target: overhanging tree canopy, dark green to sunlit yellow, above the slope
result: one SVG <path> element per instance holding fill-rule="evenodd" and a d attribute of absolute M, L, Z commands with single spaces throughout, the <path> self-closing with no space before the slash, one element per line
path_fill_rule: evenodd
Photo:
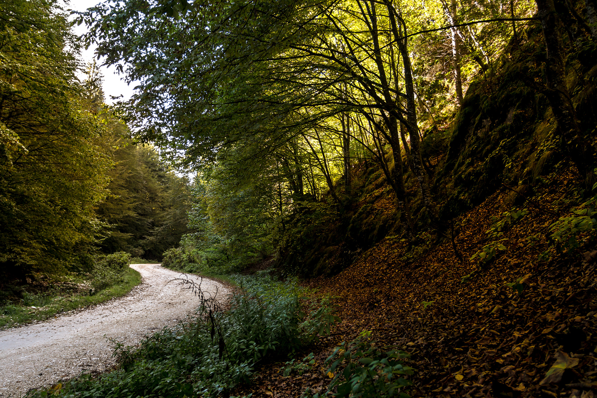
<path fill-rule="evenodd" d="M 449 6 L 450 16 L 494 17 L 501 12 L 493 2 L 479 3 L 482 10 L 469 7 L 458 13 L 455 6 Z M 416 65 L 436 53 L 434 47 L 422 50 L 429 36 L 418 37 L 411 26 L 428 27 L 429 17 L 441 19 L 441 5 L 427 11 L 392 0 L 201 1 L 188 10 L 180 8 L 175 16 L 165 12 L 171 7 L 161 1 L 142 7 L 136 1 L 106 3 L 79 16 L 91 27 L 87 43 L 97 42 L 104 63 L 141 81 L 131 115 L 139 139 L 169 146 L 171 158 L 187 165 L 216 159 L 235 163 L 248 180 L 277 164 L 278 175 L 284 175 L 297 200 L 305 181 L 316 192 L 305 171 L 319 169 L 338 203 L 332 178 L 336 166 L 330 170 L 328 162 L 337 155 L 330 158 L 327 152 L 341 149 L 340 174 L 348 192 L 352 141 L 380 163 L 396 205 L 408 219 L 404 153 L 426 209 L 420 214 L 435 220 L 437 206 L 429 167 L 421 156 L 418 117 L 426 113 L 425 119 L 436 125 L 435 111 L 426 103 L 429 91 L 417 94 L 425 71 Z M 453 27 L 455 42 L 466 43 L 463 48 L 474 48 L 485 59 L 473 61 L 472 54 L 458 53 L 453 65 L 487 70 L 500 51 L 498 45 L 488 50 L 485 40 L 507 42 L 512 30 L 504 22 L 511 19 L 498 14 L 469 34 Z M 460 86 L 463 91 L 464 82 Z M 441 116 L 447 118 L 449 112 Z M 324 143 L 322 132 L 332 131 L 338 132 L 336 138 Z M 393 170 L 385 164 L 385 143 L 392 149 Z"/>

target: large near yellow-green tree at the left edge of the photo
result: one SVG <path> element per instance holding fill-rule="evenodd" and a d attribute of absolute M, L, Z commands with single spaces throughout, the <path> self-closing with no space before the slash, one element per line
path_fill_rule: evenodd
<path fill-rule="evenodd" d="M 106 127 L 75 77 L 79 44 L 58 2 L 1 7 L 2 277 L 86 271 L 112 166 Z"/>

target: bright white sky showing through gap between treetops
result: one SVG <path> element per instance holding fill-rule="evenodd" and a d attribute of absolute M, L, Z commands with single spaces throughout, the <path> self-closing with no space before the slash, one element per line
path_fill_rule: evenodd
<path fill-rule="evenodd" d="M 72 9 L 72 10 L 76 10 L 76 11 L 85 11 L 87 10 L 87 8 L 89 7 L 93 7 L 94 5 L 100 3 L 101 0 L 70 0 L 69 4 L 66 6 L 66 9 Z M 73 32 L 75 32 L 76 35 L 82 35 L 84 33 L 87 32 L 87 26 L 85 26 L 85 24 L 80 24 L 79 26 L 73 26 Z M 90 47 L 88 48 L 88 50 L 85 50 L 85 48 L 81 49 L 81 58 L 82 60 L 87 63 L 87 62 L 93 62 L 93 53 L 96 51 L 96 49 L 94 47 Z M 100 63 L 100 61 L 98 61 L 98 64 Z M 118 95 L 123 95 L 124 97 L 121 100 L 128 100 L 131 95 L 133 95 L 133 87 L 136 86 L 136 84 L 133 82 L 131 85 L 127 85 L 127 83 L 124 81 L 124 75 L 118 75 L 116 74 L 116 68 L 111 66 L 109 68 L 106 68 L 105 66 L 100 67 L 101 73 L 104 76 L 104 82 L 103 82 L 103 89 L 104 89 L 104 94 L 106 95 L 106 103 L 111 104 L 115 101 L 110 99 L 110 95 L 113 95 L 114 97 L 118 97 Z M 81 73 L 81 75 L 79 75 L 79 78 L 84 78 L 84 73 Z"/>

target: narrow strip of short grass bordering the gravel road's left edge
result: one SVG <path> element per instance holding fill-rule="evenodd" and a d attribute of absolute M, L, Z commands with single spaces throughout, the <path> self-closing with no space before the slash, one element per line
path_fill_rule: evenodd
<path fill-rule="evenodd" d="M 122 297 L 141 283 L 141 274 L 132 268 L 122 273 L 123 282 L 112 285 L 94 295 L 27 295 L 26 302 L 0 307 L 0 329 L 13 328 L 45 320 L 64 311 L 103 303 L 115 297 Z M 29 304 L 27 306 L 23 304 Z M 32 308 L 35 307 L 35 308 Z"/>

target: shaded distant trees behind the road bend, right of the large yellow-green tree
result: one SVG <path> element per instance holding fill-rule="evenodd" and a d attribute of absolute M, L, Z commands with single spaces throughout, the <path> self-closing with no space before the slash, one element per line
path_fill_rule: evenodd
<path fill-rule="evenodd" d="M 159 259 L 187 232 L 189 181 L 177 177 L 152 146 L 127 140 L 114 144 L 110 195 L 97 206 L 97 216 L 107 224 L 99 246 L 107 253 Z"/>

